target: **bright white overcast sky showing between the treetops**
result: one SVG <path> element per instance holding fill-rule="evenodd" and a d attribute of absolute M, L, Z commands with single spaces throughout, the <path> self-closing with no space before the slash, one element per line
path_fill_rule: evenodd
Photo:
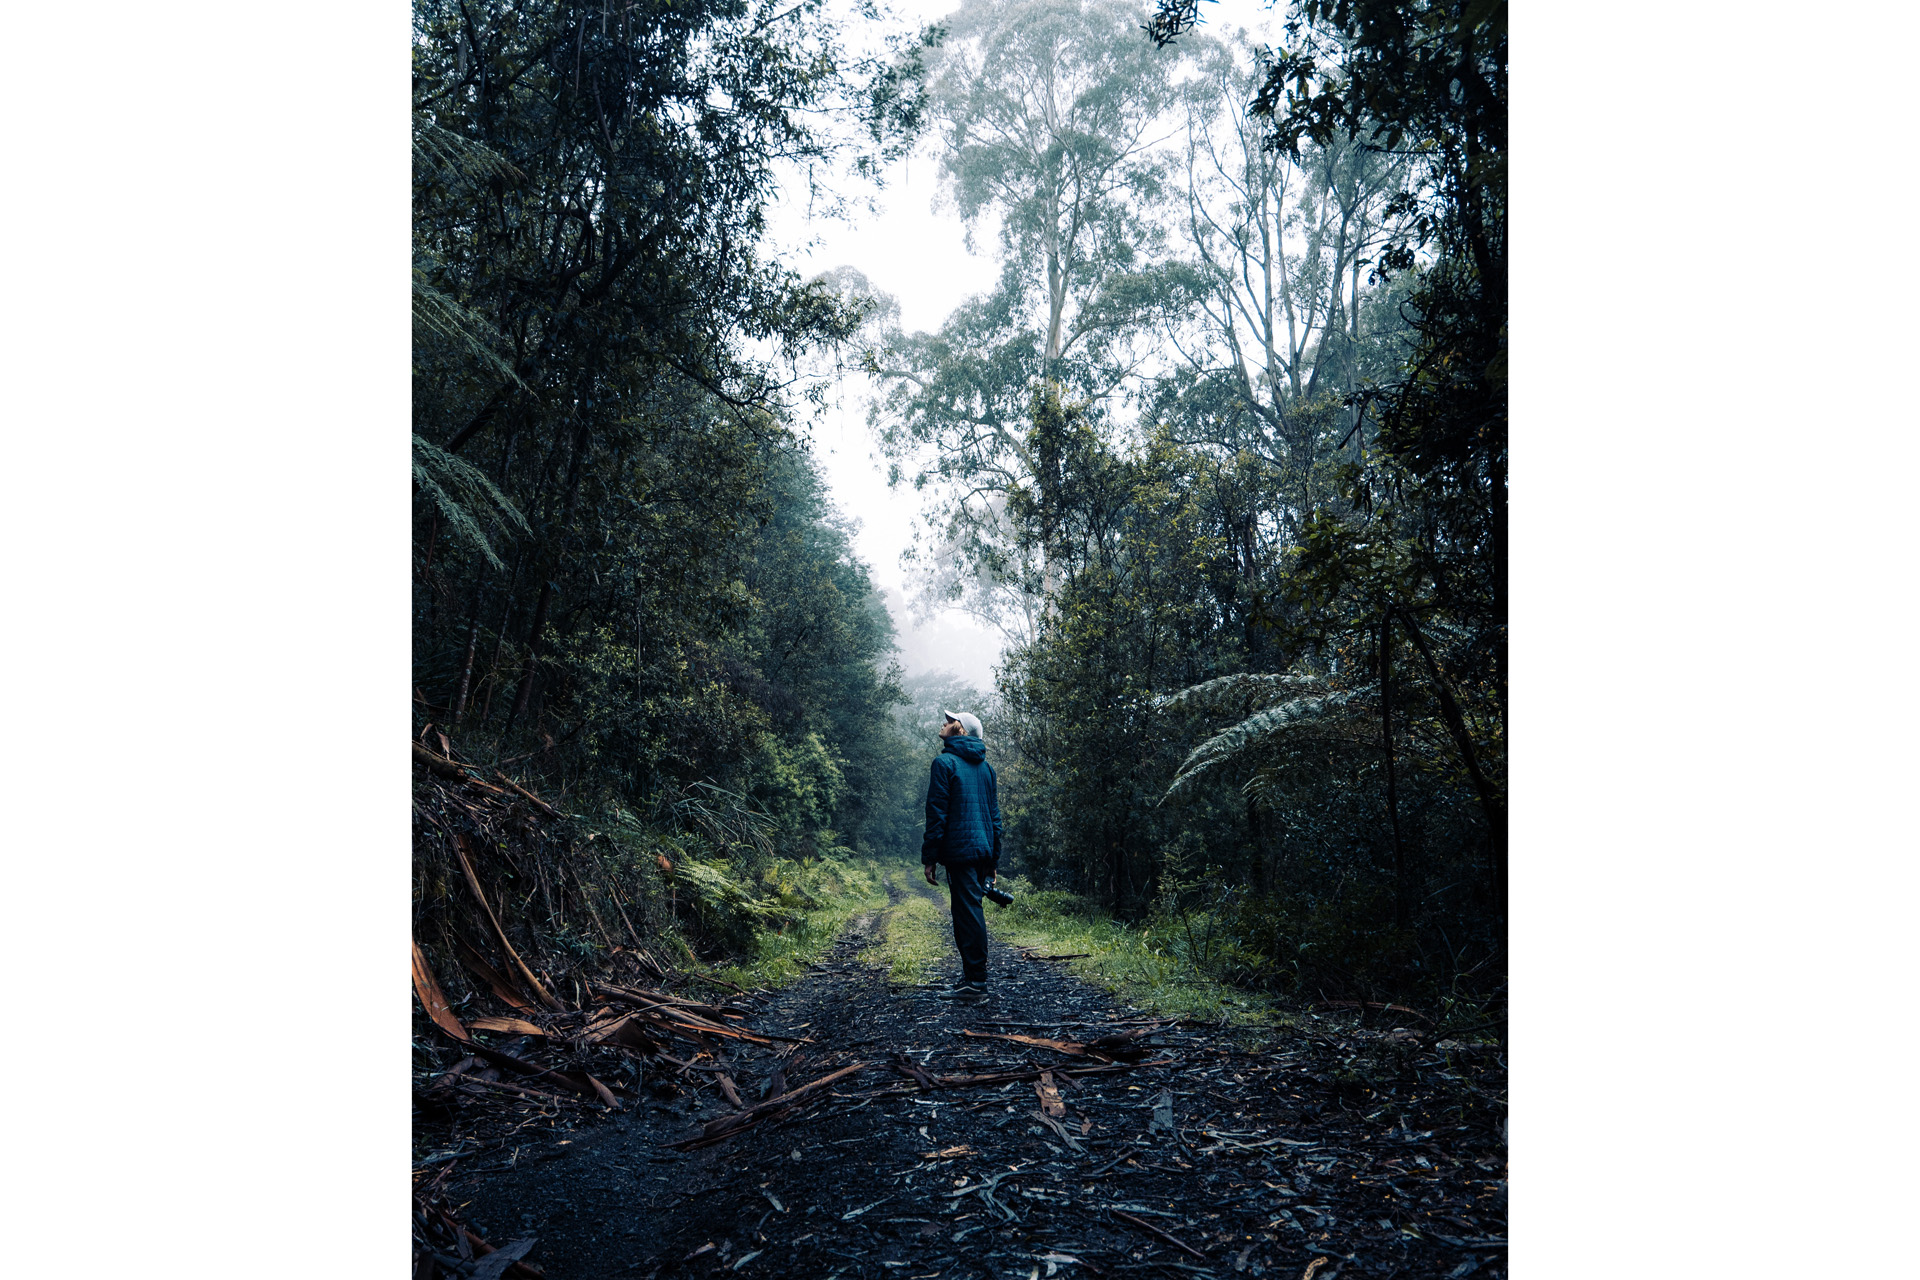
<path fill-rule="evenodd" d="M 950 0 L 899 0 L 895 10 L 914 25 L 952 13 Z M 1142 21 L 1146 8 L 1140 10 Z M 1258 0 L 1202 4 L 1204 31 L 1227 35 L 1235 27 L 1275 38 L 1279 23 Z M 1144 33 L 1140 36 L 1146 38 Z M 979 236 L 981 253 L 966 251 L 966 230 L 950 209 L 935 211 L 939 157 L 931 144 L 887 173 L 877 213 L 852 221 L 806 217 L 806 194 L 795 186 L 793 200 L 772 211 L 774 244 L 803 276 L 833 267 L 854 267 L 874 288 L 900 303 L 906 332 L 935 330 L 960 301 L 989 290 L 998 276 L 996 244 Z M 914 626 L 906 610 L 910 583 L 900 566 L 900 551 L 912 541 L 914 516 L 922 499 L 910 487 L 889 489 L 885 464 L 877 457 L 866 426 L 864 376 L 845 378 L 835 407 L 814 428 L 814 453 L 833 489 L 833 501 L 860 522 L 854 549 L 874 570 L 887 593 L 900 639 L 900 662 L 908 674 L 947 670 L 973 685 L 993 685 L 993 664 L 1000 658 L 998 631 L 948 610 L 925 626 Z"/>

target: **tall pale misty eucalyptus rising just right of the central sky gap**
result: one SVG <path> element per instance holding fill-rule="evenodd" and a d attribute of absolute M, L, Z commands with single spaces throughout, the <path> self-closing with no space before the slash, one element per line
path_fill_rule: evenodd
<path fill-rule="evenodd" d="M 1004 518 L 1035 476 L 1031 391 L 1112 401 L 1187 299 L 1158 219 L 1177 58 L 1142 17 L 1117 0 L 983 0 L 947 19 L 931 63 L 947 192 L 970 244 L 996 232 L 1002 274 L 939 332 L 885 334 L 870 372 L 897 474 L 933 486 L 933 555 L 956 591 L 981 572 L 1027 595 L 1054 578 L 1010 551 Z"/>

